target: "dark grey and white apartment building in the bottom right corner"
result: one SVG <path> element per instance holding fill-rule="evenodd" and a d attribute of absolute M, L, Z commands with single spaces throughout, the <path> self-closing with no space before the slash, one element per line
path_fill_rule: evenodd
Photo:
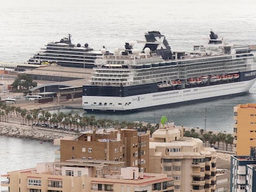
<path fill-rule="evenodd" d="M 231 156 L 231 192 L 256 191 L 256 148 L 246 156 Z"/>

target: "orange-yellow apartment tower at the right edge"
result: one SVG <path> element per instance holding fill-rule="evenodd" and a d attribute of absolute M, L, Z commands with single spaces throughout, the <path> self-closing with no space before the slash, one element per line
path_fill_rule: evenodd
<path fill-rule="evenodd" d="M 250 154 L 256 146 L 256 104 L 239 104 L 234 107 L 234 149 L 237 156 Z"/>

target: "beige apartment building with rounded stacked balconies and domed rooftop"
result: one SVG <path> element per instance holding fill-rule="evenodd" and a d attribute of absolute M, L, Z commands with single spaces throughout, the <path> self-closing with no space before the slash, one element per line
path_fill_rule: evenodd
<path fill-rule="evenodd" d="M 183 137 L 183 129 L 162 127 L 150 139 L 150 173 L 174 178 L 174 191 L 216 191 L 216 150 Z"/>

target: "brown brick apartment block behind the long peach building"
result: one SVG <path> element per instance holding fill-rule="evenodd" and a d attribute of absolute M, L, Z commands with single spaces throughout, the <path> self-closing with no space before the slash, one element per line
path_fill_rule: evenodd
<path fill-rule="evenodd" d="M 123 161 L 125 167 L 149 170 L 149 133 L 132 129 L 102 129 L 88 131 L 77 138 L 59 140 L 59 161 L 97 159 Z M 57 141 L 56 141 L 57 143 Z"/>

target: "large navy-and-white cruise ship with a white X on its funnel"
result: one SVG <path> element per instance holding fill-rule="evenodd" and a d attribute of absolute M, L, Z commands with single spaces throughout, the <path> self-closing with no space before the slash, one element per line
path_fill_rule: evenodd
<path fill-rule="evenodd" d="M 256 78 L 248 46 L 225 44 L 210 31 L 205 46 L 171 51 L 159 31 L 145 34 L 142 51 L 126 43 L 97 59 L 90 85 L 83 85 L 86 111 L 139 111 L 182 102 L 246 93 Z"/>

